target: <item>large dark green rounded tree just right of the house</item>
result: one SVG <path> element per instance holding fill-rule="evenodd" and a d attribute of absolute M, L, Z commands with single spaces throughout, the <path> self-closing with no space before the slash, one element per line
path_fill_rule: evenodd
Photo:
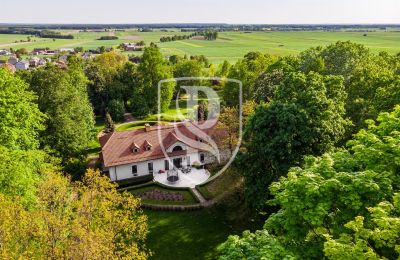
<path fill-rule="evenodd" d="M 340 77 L 291 73 L 273 102 L 257 107 L 238 158 L 251 207 L 265 207 L 266 187 L 300 166 L 305 155 L 321 155 L 341 140 L 348 124 L 345 98 Z"/>

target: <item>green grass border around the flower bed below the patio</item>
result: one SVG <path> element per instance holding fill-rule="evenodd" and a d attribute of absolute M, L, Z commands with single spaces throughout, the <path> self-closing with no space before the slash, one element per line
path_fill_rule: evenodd
<path fill-rule="evenodd" d="M 168 187 L 163 187 L 156 183 L 140 185 L 138 188 L 128 189 L 130 193 L 133 195 L 139 192 L 151 191 L 151 190 L 159 190 L 163 192 L 170 193 L 179 193 L 183 196 L 183 201 L 166 201 L 166 200 L 150 200 L 150 199 L 142 199 L 143 203 L 146 204 L 158 204 L 158 205 L 190 205 L 198 203 L 197 199 L 194 197 L 192 192 L 187 188 L 182 189 L 172 189 Z"/>

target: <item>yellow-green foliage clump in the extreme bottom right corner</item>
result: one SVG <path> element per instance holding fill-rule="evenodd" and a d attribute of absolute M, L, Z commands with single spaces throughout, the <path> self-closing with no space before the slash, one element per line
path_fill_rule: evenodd
<path fill-rule="evenodd" d="M 327 236 L 324 252 L 329 259 L 395 259 L 400 256 L 400 194 L 369 207 L 370 220 L 357 216 L 345 224 L 351 233 Z"/>

